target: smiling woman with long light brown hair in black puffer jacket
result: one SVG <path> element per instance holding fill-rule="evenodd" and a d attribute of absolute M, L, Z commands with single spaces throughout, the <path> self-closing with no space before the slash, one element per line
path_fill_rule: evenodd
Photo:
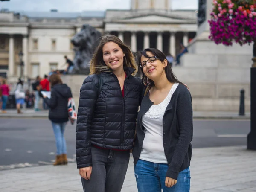
<path fill-rule="evenodd" d="M 136 73 L 131 50 L 116 36 L 104 36 L 80 90 L 76 163 L 84 192 L 122 189 L 143 90 Z"/>

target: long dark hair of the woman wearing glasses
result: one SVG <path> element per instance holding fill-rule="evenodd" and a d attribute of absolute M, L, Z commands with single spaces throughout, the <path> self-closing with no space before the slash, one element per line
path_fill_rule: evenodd
<path fill-rule="evenodd" d="M 174 73 L 172 72 L 172 67 L 171 67 L 171 64 L 169 63 L 169 61 L 166 59 L 166 55 L 163 54 L 163 52 L 161 52 L 160 50 L 158 49 L 154 49 L 154 48 L 147 48 L 147 49 L 144 49 L 144 51 L 140 51 L 140 52 L 137 52 L 137 63 L 140 64 L 141 63 L 141 57 L 142 55 L 145 57 L 145 58 L 151 58 L 152 56 L 149 56 L 147 55 L 146 52 L 151 52 L 154 56 L 157 57 L 157 59 L 159 59 L 161 62 L 163 62 L 164 60 L 167 61 L 167 66 L 166 68 L 164 69 L 165 70 L 165 73 L 166 73 L 166 77 L 168 79 L 168 81 L 170 81 L 171 83 L 180 83 L 180 84 L 183 84 L 181 83 L 177 77 L 174 75 Z M 152 81 L 151 79 L 149 79 L 147 76 L 145 76 L 145 73 L 143 73 L 143 70 L 142 68 L 140 67 L 140 70 L 141 70 L 141 73 L 142 73 L 142 80 L 145 84 L 147 84 L 149 87 L 153 87 L 154 86 L 154 81 Z"/>

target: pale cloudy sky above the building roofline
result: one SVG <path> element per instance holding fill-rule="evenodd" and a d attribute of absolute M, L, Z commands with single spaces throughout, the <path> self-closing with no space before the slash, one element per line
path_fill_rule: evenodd
<path fill-rule="evenodd" d="M 198 0 L 171 0 L 172 9 L 197 9 Z M 0 9 L 10 11 L 81 12 L 84 10 L 130 9 L 130 0 L 10 0 L 0 1 Z"/>

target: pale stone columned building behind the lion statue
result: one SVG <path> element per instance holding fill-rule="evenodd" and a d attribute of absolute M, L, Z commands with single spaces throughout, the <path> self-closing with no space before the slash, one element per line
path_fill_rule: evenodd
<path fill-rule="evenodd" d="M 84 12 L 0 12 L 0 76 L 16 81 L 64 69 L 73 59 L 70 39 L 83 24 L 118 36 L 133 52 L 154 47 L 177 55 L 195 37 L 195 10 L 173 10 L 169 0 L 131 0 L 129 10 Z M 23 52 L 23 72 L 18 53 Z"/>

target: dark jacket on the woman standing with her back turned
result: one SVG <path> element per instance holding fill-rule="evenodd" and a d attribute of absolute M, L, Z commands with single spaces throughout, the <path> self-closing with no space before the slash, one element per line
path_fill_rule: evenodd
<path fill-rule="evenodd" d="M 67 99 L 72 97 L 70 87 L 66 84 L 56 84 L 52 87 L 51 98 L 44 98 L 49 106 L 49 119 L 61 123 L 68 121 Z"/>

